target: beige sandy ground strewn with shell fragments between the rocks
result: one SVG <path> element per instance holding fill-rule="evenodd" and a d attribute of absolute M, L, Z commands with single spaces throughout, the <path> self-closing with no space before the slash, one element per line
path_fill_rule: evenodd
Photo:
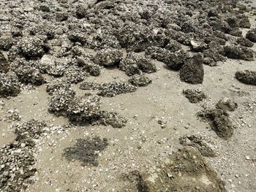
<path fill-rule="evenodd" d="M 256 27 L 255 19 L 251 18 L 252 28 Z M 252 49 L 256 51 L 256 47 Z M 71 126 L 58 134 L 48 135 L 37 148 L 36 182 L 26 191 L 135 190 L 122 179 L 123 175 L 160 164 L 181 147 L 178 138 L 184 134 L 206 135 L 215 143 L 217 157 L 207 158 L 207 161 L 225 181 L 227 191 L 256 191 L 256 89 L 238 82 L 234 77 L 238 70 L 256 71 L 255 61 L 227 60 L 215 67 L 204 66 L 202 85 L 181 82 L 178 72 L 166 69 L 161 62 L 155 63 L 159 70 L 148 75 L 153 80 L 151 85 L 138 88 L 135 93 L 102 98 L 102 110 L 114 110 L 124 115 L 128 119 L 127 126 L 120 129 L 111 126 Z M 89 77 L 89 80 L 98 82 L 121 79 L 127 79 L 127 76 L 118 69 L 104 69 L 100 77 Z M 182 94 L 184 88 L 199 88 L 205 91 L 208 99 L 200 104 L 191 104 Z M 75 90 L 78 94 L 84 93 L 78 85 Z M 37 118 L 48 124 L 66 126 L 67 119 L 48 113 L 49 97 L 45 85 L 42 85 L 23 91 L 18 97 L 1 99 L 5 105 L 0 115 L 4 117 L 8 110 L 17 109 L 23 116 L 19 123 Z M 208 124 L 196 116 L 203 107 L 214 107 L 224 97 L 238 104 L 238 110 L 230 112 L 236 129 L 228 140 L 217 137 Z M 167 120 L 166 128 L 157 123 L 159 118 Z M 6 121 L 0 121 L 0 127 L 0 146 L 3 146 L 14 138 L 13 128 Z M 64 148 L 74 145 L 75 139 L 87 136 L 109 139 L 110 145 L 99 154 L 99 166 L 81 166 L 79 161 L 66 161 L 62 157 Z"/>

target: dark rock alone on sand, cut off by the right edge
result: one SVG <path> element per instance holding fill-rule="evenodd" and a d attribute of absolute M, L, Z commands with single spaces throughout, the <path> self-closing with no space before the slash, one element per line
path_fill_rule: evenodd
<path fill-rule="evenodd" d="M 247 85 L 256 85 L 256 72 L 252 71 L 238 71 L 236 72 L 236 79 Z"/>

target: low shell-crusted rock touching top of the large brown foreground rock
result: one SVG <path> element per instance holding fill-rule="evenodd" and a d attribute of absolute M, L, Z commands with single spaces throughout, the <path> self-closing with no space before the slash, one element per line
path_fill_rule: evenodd
<path fill-rule="evenodd" d="M 215 157 L 214 147 L 210 139 L 199 135 L 185 135 L 179 138 L 181 145 L 197 148 L 205 157 Z"/>

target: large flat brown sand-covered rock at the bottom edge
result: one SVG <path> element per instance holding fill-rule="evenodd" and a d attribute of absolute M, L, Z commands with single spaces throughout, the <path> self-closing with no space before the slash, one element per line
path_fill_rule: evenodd
<path fill-rule="evenodd" d="M 193 147 L 173 153 L 161 166 L 140 173 L 138 191 L 225 192 L 225 183 Z"/>

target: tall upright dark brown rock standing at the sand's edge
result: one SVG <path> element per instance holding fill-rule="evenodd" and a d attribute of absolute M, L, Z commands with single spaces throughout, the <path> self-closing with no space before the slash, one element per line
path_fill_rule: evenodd
<path fill-rule="evenodd" d="M 189 59 L 189 61 L 181 67 L 180 78 L 181 81 L 190 84 L 203 83 L 203 55 L 198 53 Z"/>

